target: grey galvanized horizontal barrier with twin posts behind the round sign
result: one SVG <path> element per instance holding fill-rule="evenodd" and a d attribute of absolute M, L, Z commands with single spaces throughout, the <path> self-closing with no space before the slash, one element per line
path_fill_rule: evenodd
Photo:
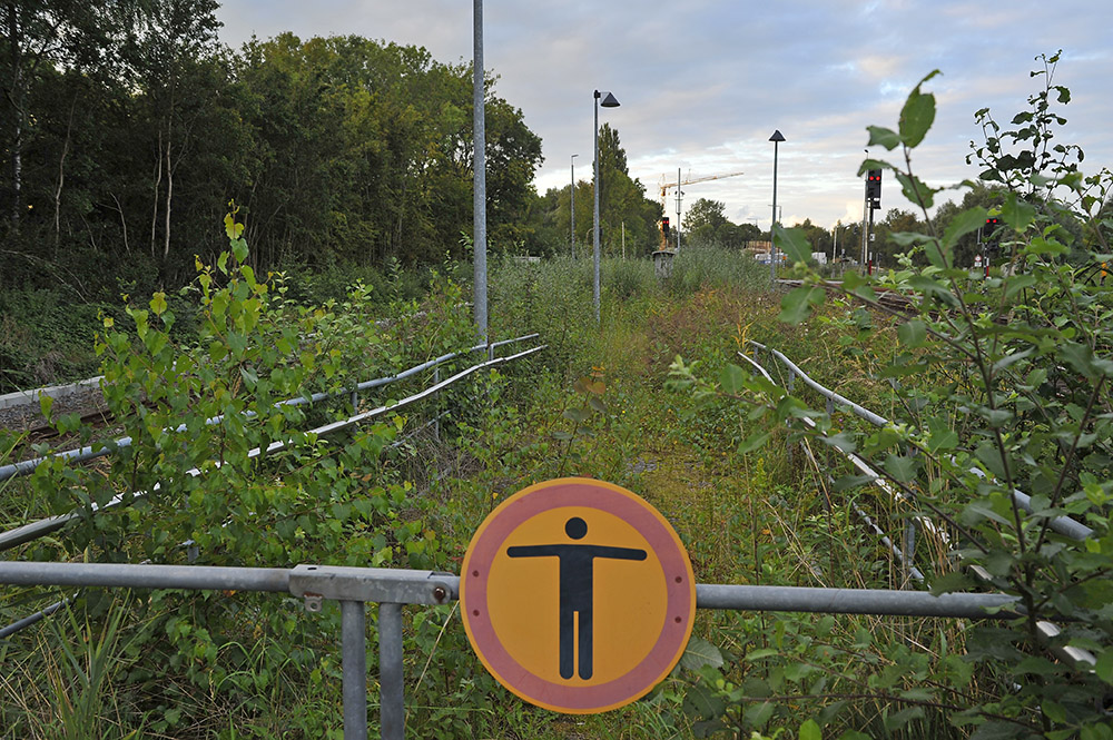
<path fill-rule="evenodd" d="M 380 728 L 384 740 L 405 737 L 402 606 L 445 604 L 459 598 L 460 579 L 434 571 L 333 565 L 293 569 L 35 563 L 0 561 L 0 583 L 10 585 L 126 589 L 230 590 L 289 593 L 319 612 L 341 604 L 341 654 L 345 740 L 367 738 L 366 605 L 378 604 Z M 1006 594 L 810 589 L 698 584 L 697 609 L 892 614 L 962 619 L 1012 619 L 1017 603 Z"/>

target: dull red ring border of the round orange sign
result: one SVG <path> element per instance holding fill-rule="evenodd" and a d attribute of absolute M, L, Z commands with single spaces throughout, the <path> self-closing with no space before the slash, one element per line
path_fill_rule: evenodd
<path fill-rule="evenodd" d="M 666 620 L 649 654 L 621 678 L 593 685 L 567 685 L 522 667 L 499 641 L 486 610 L 486 576 L 499 549 L 519 525 L 562 506 L 598 509 L 633 526 L 653 547 L 666 574 Z M 696 576 L 683 543 L 648 502 L 613 483 L 565 477 L 525 487 L 508 497 L 483 521 L 464 555 L 460 579 L 464 629 L 486 669 L 530 703 L 571 714 L 604 712 L 646 695 L 683 654 L 696 615 Z M 476 615 L 474 612 L 479 611 Z"/>

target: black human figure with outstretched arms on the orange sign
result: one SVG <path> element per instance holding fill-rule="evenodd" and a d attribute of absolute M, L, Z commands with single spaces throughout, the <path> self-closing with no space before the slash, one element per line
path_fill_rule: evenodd
<path fill-rule="evenodd" d="M 582 540 L 588 533 L 588 523 L 573 516 L 564 523 L 564 533 L 572 540 Z M 510 558 L 560 559 L 560 675 L 562 679 L 572 678 L 573 661 L 579 658 L 580 678 L 590 679 L 594 561 L 597 558 L 646 560 L 646 551 L 605 545 L 550 544 L 506 547 L 506 554 Z M 577 619 L 580 628 L 579 650 L 573 644 Z"/>

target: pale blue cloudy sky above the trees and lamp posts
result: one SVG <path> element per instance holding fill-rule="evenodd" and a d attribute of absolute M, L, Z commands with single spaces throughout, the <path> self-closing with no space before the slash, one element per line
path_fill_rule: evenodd
<path fill-rule="evenodd" d="M 467 0 L 226 0 L 217 14 L 232 47 L 253 33 L 358 34 L 422 46 L 444 62 L 472 59 Z M 541 193 L 570 180 L 573 154 L 577 179 L 590 179 L 599 89 L 621 102 L 601 108 L 600 122 L 618 130 L 650 197 L 678 169 L 683 179 L 742 172 L 684 186 L 683 208 L 712 198 L 735 223 L 768 228 L 777 129 L 784 221 L 857 220 L 866 127 L 896 128 L 920 79 L 942 72 L 925 86 L 938 112 L 914 168 L 933 185 L 957 184 L 977 174 L 965 164 L 982 138 L 974 111 L 988 107 L 1008 124 L 1038 90 L 1035 57 L 1060 49 L 1054 81 L 1073 99 L 1056 140 L 1082 146 L 1086 172 L 1113 166 L 1109 0 L 485 0 L 483 14 L 496 93 L 542 138 Z M 881 206 L 909 207 L 892 178 Z"/>

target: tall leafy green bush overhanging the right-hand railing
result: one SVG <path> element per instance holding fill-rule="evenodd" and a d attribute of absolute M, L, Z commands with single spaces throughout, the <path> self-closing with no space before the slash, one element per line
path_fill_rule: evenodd
<path fill-rule="evenodd" d="M 1036 60 L 1032 78 L 1041 85 L 1027 110 L 1007 126 L 988 109 L 975 115 L 985 140 L 972 142 L 968 161 L 1003 189 L 999 207 L 966 209 L 944 229 L 929 216 L 944 188 L 922 180 L 912 162 L 935 119 L 925 86 L 938 71 L 913 89 L 895 130 L 868 128 L 869 146 L 898 158 L 867 159 L 859 175 L 888 169 L 927 228 L 893 235 L 906 250 L 896 269 L 847 273 L 834 289 L 898 325 L 899 344 L 878 358 L 878 377 L 888 388 L 885 405 L 900 410 L 902 421 L 856 431 L 817 413 L 815 430 L 795 434 L 855 450 L 912 503 L 913 515 L 945 524 L 951 551 L 929 576 L 934 592 L 1017 599 L 1015 616 L 975 622 L 967 634 L 966 660 L 993 700 L 925 685 L 918 701 L 946 704 L 948 720 L 977 740 L 1096 740 L 1113 738 L 1113 174 L 1085 175 L 1082 150 L 1060 142 L 1060 110 L 1071 93 L 1054 80 L 1058 53 Z M 999 226 L 991 233 L 994 218 Z M 988 276 L 956 260 L 956 245 L 979 229 L 979 241 L 999 257 Z M 825 286 L 799 231 L 776 238 L 804 282 L 784 297 L 781 317 L 799 323 L 824 302 Z M 908 312 L 879 302 L 881 290 L 910 298 Z M 750 402 L 754 413 L 741 424 L 751 433 L 752 420 L 784 425 L 802 407 L 789 389 L 746 368 L 728 367 L 718 383 L 682 363 L 673 372 Z M 751 437 L 760 441 L 762 431 Z M 1074 534 L 1061 526 L 1064 517 L 1081 525 Z M 1041 628 L 1045 621 L 1058 625 L 1055 637 Z M 1065 647 L 1089 655 L 1071 658 Z"/>

